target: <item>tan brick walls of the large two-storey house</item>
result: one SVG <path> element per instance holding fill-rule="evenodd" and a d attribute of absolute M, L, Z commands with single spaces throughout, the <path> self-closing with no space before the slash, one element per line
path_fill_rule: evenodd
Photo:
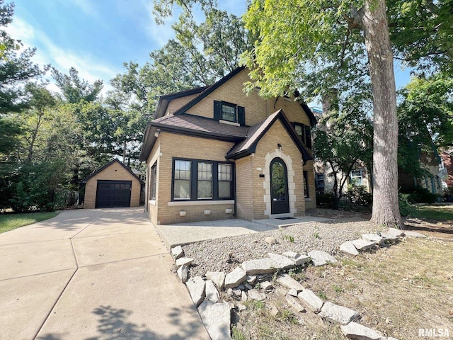
<path fill-rule="evenodd" d="M 310 125 L 309 117 L 294 98 L 265 100 L 256 91 L 247 96 L 242 91 L 246 81 L 248 71 L 244 69 L 186 112 L 214 118 L 214 101 L 226 101 L 245 108 L 246 125 L 255 125 L 279 109 L 284 111 L 291 122 Z M 167 113 L 173 113 L 185 103 L 188 103 L 187 98 L 171 101 Z M 281 150 L 277 144 L 282 145 Z M 289 215 L 302 216 L 305 215 L 306 208 L 316 208 L 313 162 L 303 165 L 301 152 L 280 120 L 276 120 L 260 138 L 254 154 L 231 161 L 236 172 L 236 206 L 234 200 L 172 201 L 174 158 L 226 162 L 226 154 L 234 145 L 234 142 L 161 131 L 147 159 L 147 174 L 150 173 L 151 166 L 157 166 L 156 199 L 147 202 L 151 222 L 154 225 L 164 225 L 234 217 L 243 220 L 271 217 L 270 162 L 275 157 L 283 159 L 288 170 Z M 309 173 L 309 198 L 304 197 L 303 171 Z M 264 177 L 260 174 L 264 174 Z M 150 176 L 147 176 L 147 197 L 150 186 Z M 209 215 L 206 210 L 209 210 Z"/>

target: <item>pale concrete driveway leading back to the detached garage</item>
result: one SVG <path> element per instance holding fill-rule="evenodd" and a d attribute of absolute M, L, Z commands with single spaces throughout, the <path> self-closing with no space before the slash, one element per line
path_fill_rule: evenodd
<path fill-rule="evenodd" d="M 209 339 L 142 208 L 0 234 L 0 339 Z"/>

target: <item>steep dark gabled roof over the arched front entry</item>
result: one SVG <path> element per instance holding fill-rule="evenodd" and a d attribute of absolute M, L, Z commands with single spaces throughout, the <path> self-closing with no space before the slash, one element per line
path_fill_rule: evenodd
<path fill-rule="evenodd" d="M 277 120 L 280 120 L 285 130 L 287 130 L 289 137 L 292 138 L 292 141 L 301 152 L 302 159 L 304 159 L 304 161 L 309 161 L 310 159 L 313 159 L 311 152 L 309 152 L 309 150 L 306 149 L 299 135 L 297 135 L 292 124 L 289 122 L 288 118 L 286 117 L 285 113 L 283 113 L 282 110 L 273 113 L 260 123 L 251 126 L 248 129 L 246 140 L 243 140 L 242 142 L 239 142 L 237 145 L 235 145 L 228 152 L 228 154 L 226 154 L 226 159 L 239 159 L 255 153 L 256 145 L 258 145 L 258 142 L 261 140 L 261 138 L 266 134 L 266 132 L 268 132 L 270 127 Z"/>

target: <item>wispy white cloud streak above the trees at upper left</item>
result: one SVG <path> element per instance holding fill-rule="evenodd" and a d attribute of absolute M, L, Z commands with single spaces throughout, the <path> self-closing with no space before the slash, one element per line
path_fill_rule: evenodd
<path fill-rule="evenodd" d="M 53 67 L 62 73 L 68 73 L 70 67 L 75 67 L 79 71 L 81 79 L 89 82 L 102 79 L 104 81 L 103 92 L 111 89 L 109 80 L 120 73 L 120 69 L 109 67 L 96 60 L 95 57 L 83 51 L 64 50 L 57 46 L 52 40 L 40 30 L 16 17 L 7 28 L 8 33 L 23 42 L 24 47 L 38 47 L 33 62 L 45 65 L 52 64 Z"/>

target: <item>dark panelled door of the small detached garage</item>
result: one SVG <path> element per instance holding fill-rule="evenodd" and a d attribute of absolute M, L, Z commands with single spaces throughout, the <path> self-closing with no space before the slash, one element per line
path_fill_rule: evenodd
<path fill-rule="evenodd" d="M 98 181 L 95 208 L 130 207 L 132 181 Z"/>

